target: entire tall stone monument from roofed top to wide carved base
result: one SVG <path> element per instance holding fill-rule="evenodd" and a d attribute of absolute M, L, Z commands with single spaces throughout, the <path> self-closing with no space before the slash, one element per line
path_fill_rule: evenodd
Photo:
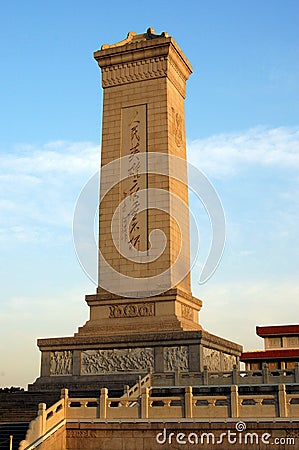
<path fill-rule="evenodd" d="M 29 389 L 121 390 L 149 371 L 231 370 L 242 348 L 202 329 L 190 286 L 191 65 L 172 37 L 151 28 L 94 57 L 104 89 L 99 285 L 74 336 L 38 340 L 41 374 Z"/>

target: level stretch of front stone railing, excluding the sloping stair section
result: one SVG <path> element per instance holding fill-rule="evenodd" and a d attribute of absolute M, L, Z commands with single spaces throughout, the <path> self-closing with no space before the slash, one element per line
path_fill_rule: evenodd
<path fill-rule="evenodd" d="M 141 396 L 110 398 L 102 389 L 99 400 L 69 399 L 67 419 L 217 419 L 217 418 L 276 418 L 299 417 L 299 393 L 287 393 L 279 384 L 267 393 L 259 391 L 239 394 L 232 385 L 225 393 L 215 394 L 215 389 L 186 386 L 178 394 L 165 394 L 165 388 L 144 388 Z M 207 393 L 208 391 L 208 393 Z"/>

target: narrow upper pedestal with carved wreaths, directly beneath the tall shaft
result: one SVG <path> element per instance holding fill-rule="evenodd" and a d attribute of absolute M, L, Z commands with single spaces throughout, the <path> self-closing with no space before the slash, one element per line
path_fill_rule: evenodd
<path fill-rule="evenodd" d="M 87 295 L 86 302 L 90 320 L 76 336 L 201 330 L 198 312 L 202 301 L 177 288 L 142 298 L 98 290 L 95 295 Z"/>

